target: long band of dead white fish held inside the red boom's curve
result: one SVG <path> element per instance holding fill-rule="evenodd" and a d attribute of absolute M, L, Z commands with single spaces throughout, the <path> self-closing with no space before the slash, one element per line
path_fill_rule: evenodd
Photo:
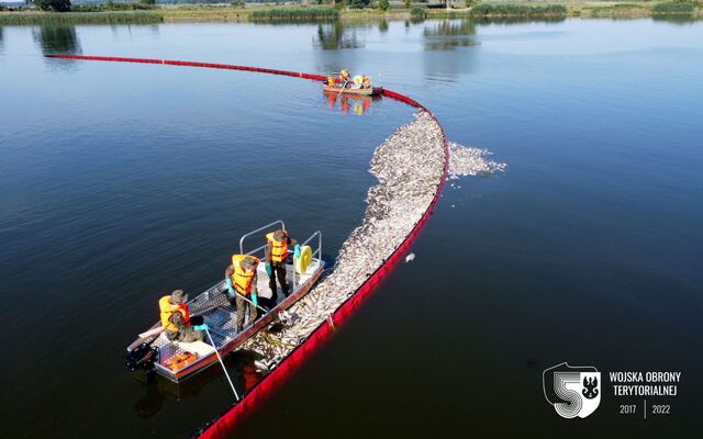
<path fill-rule="evenodd" d="M 380 183 L 369 189 L 361 225 L 342 245 L 332 273 L 243 347 L 279 363 L 303 342 L 417 224 L 442 182 L 445 159 L 442 130 L 426 112 L 416 113 L 412 123 L 387 138 L 371 159 L 370 171 Z"/>

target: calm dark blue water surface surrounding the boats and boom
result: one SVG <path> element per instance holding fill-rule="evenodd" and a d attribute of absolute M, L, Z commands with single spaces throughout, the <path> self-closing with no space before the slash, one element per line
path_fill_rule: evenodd
<path fill-rule="evenodd" d="M 41 57 L 65 52 L 381 74 L 509 164 L 447 187 L 415 261 L 238 437 L 698 435 L 703 24 L 568 20 L 0 27 L 7 437 L 183 437 L 225 409 L 220 371 L 145 386 L 124 347 L 260 224 L 322 229 L 333 262 L 373 148 L 412 114 L 290 78 Z M 682 371 L 680 395 L 656 419 L 605 394 L 566 421 L 542 390 L 562 361 Z M 245 356 L 228 368 L 252 379 Z"/>

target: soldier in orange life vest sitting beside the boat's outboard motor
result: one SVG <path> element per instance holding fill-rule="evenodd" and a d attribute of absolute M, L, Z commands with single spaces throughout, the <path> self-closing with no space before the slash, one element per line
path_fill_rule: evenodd
<path fill-rule="evenodd" d="M 176 290 L 158 301 L 166 337 L 171 341 L 202 341 L 202 331 L 208 329 L 208 325 L 202 324 L 202 317 L 191 317 L 186 302 L 188 294 L 183 290 Z M 198 322 L 200 325 L 194 325 Z"/>

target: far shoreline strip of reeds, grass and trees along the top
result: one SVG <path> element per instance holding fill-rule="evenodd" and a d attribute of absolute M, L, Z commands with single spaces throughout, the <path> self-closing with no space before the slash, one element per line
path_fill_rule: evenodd
<path fill-rule="evenodd" d="M 51 0 L 43 0 L 51 1 Z M 60 1 L 60 0 L 58 0 Z M 66 1 L 66 0 L 63 0 Z M 349 1 L 349 2 L 347 2 Z M 38 3 L 37 3 L 38 4 Z M 141 2 L 83 3 L 70 5 L 68 12 L 42 11 L 38 8 L 7 8 L 0 3 L 0 25 L 36 24 L 129 24 L 182 21 L 202 22 L 325 22 L 335 20 L 562 20 L 580 18 L 696 19 L 703 16 L 703 0 L 668 1 L 534 1 L 534 0 L 456 0 L 413 2 L 410 0 L 345 0 L 332 4 L 264 4 L 233 0 L 231 4 L 155 4 Z"/>

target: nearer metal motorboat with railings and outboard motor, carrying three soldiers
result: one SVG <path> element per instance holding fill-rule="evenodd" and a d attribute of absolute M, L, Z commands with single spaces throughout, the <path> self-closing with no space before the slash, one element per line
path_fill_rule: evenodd
<path fill-rule="evenodd" d="M 257 236 L 258 243 L 265 241 L 265 234 L 278 228 L 286 229 L 282 221 L 252 230 L 239 239 L 241 255 L 252 255 L 261 260 L 257 267 L 257 288 L 259 297 L 264 299 L 271 297 L 264 258 L 266 245 L 245 252 L 244 244 L 246 238 L 252 236 Z M 316 248 L 313 249 L 310 244 Z M 292 249 L 288 250 L 289 260 L 293 260 L 293 263 L 287 263 L 286 267 L 287 280 L 291 286 L 289 295 L 286 297 L 280 291 L 280 285 L 277 285 L 279 286 L 278 301 L 268 313 L 264 314 L 258 311 L 258 318 L 254 322 L 248 322 L 247 316 L 243 329 L 237 331 L 236 308 L 227 300 L 227 286 L 222 280 L 187 303 L 191 316 L 202 316 L 203 322 L 209 326 L 208 330 L 214 346 L 208 337 L 205 337 L 205 341 L 171 341 L 166 338 L 164 327 L 159 322 L 150 329 L 140 334 L 138 338 L 127 347 L 127 368 L 154 370 L 159 375 L 179 383 L 216 363 L 217 353 L 224 357 L 236 350 L 256 331 L 268 325 L 278 313 L 287 309 L 305 295 L 320 279 L 325 266 L 322 260 L 322 234 L 320 232 L 313 233 L 300 246 L 300 258 L 294 258 Z"/>

